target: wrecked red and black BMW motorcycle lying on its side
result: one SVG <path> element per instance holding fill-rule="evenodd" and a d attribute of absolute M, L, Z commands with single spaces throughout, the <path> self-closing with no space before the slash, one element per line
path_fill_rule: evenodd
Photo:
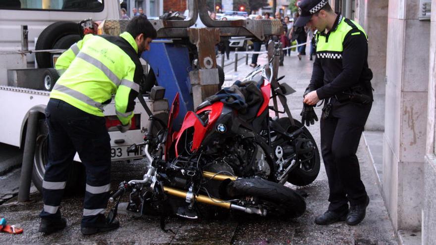
<path fill-rule="evenodd" d="M 167 124 L 151 116 L 142 143 L 150 163 L 147 173 L 142 180 L 122 182 L 110 200 L 131 192 L 126 209 L 137 215 L 197 218 L 222 211 L 210 206 L 262 216 L 303 214 L 304 198 L 283 184 L 312 183 L 320 156 L 310 132 L 290 115 L 285 96 L 294 91 L 278 83 L 283 77 L 275 78 L 279 55 L 275 46 L 267 65 L 208 98 L 197 112 L 189 111 L 180 130 L 172 130 L 178 96 Z M 288 116 L 272 118 L 270 110 Z"/>

